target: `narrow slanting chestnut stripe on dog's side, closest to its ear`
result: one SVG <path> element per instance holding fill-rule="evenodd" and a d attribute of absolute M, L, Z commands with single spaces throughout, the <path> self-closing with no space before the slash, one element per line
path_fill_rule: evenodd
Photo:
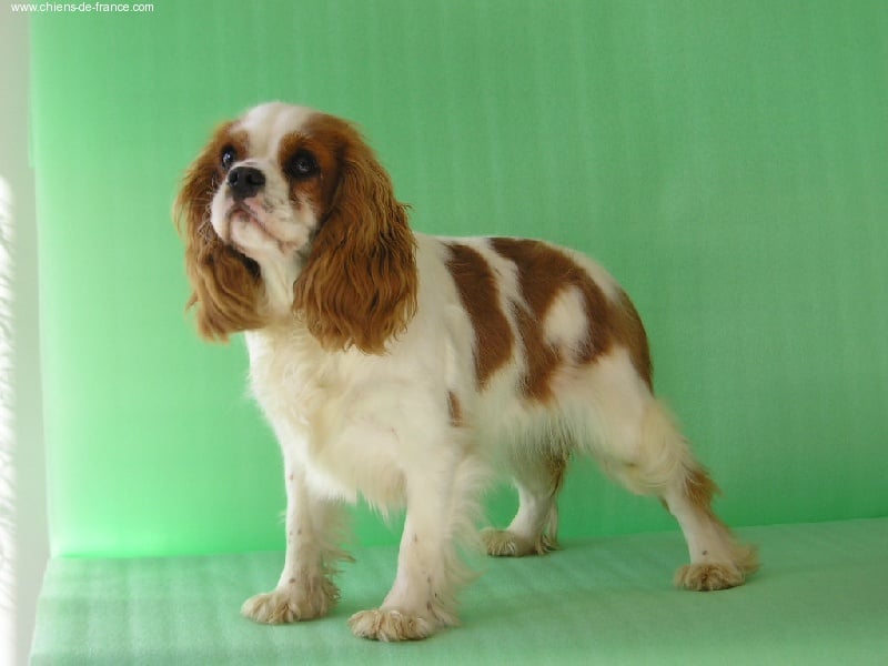
<path fill-rule="evenodd" d="M 450 243 L 447 270 L 475 330 L 475 381 L 484 389 L 491 375 L 512 356 L 514 336 L 500 305 L 500 289 L 491 266 L 468 245 Z"/>

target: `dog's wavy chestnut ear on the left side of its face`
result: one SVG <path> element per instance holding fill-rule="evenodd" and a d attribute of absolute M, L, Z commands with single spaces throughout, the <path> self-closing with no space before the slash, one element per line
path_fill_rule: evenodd
<path fill-rule="evenodd" d="M 222 154 L 243 143 L 232 129 L 233 123 L 226 123 L 215 131 L 185 172 L 173 206 L 192 289 L 186 309 L 194 307 L 202 337 L 222 342 L 266 323 L 259 264 L 224 243 L 210 222 L 213 196 L 225 178 Z"/>

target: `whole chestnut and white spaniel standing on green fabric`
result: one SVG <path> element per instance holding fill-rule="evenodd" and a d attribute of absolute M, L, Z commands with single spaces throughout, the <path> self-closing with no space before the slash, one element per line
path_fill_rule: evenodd
<path fill-rule="evenodd" d="M 542 241 L 411 231 L 354 125 L 279 102 L 215 131 L 175 208 L 200 334 L 245 333 L 283 452 L 283 572 L 244 616 L 330 612 L 347 558 L 342 506 L 362 495 L 406 517 L 394 584 L 352 632 L 406 640 L 454 625 L 474 542 L 494 556 L 556 547 L 574 452 L 675 516 L 690 554 L 677 585 L 723 589 L 756 569 L 653 395 L 638 314 L 596 263 Z M 478 533 L 494 470 L 519 506 L 505 529 Z"/>

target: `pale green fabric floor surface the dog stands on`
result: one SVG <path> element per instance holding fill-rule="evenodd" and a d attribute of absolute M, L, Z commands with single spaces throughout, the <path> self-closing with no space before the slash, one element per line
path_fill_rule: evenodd
<path fill-rule="evenodd" d="M 354 638 L 380 603 L 392 547 L 354 552 L 331 616 L 270 627 L 238 615 L 282 553 L 51 562 L 34 666 L 73 664 L 885 664 L 888 519 L 747 528 L 765 566 L 718 593 L 670 586 L 677 533 L 585 539 L 491 559 L 463 625 L 416 644 Z"/>

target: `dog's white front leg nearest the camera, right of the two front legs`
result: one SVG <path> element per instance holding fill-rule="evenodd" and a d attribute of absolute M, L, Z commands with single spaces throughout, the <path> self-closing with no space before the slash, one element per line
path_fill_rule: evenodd
<path fill-rule="evenodd" d="M 455 483 L 454 483 L 455 482 Z M 466 578 L 454 533 L 467 522 L 453 474 L 411 477 L 397 575 L 382 606 L 352 616 L 355 636 L 374 640 L 416 640 L 457 623 L 456 591 Z"/>

